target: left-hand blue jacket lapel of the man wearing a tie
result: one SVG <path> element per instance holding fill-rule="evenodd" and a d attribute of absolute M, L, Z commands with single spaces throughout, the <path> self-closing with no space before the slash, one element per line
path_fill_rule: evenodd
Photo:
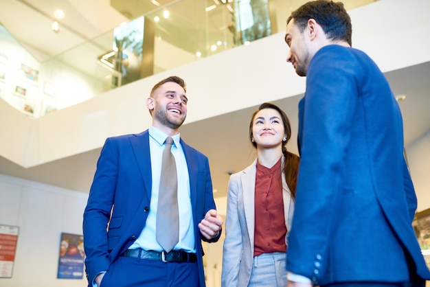
<path fill-rule="evenodd" d="M 144 181 L 146 194 L 148 194 L 148 198 L 151 198 L 152 171 L 148 130 L 145 130 L 143 133 L 135 135 L 135 137 L 131 137 L 130 143 L 136 157 L 137 165 L 139 165 L 139 171 L 142 175 L 142 180 Z"/>

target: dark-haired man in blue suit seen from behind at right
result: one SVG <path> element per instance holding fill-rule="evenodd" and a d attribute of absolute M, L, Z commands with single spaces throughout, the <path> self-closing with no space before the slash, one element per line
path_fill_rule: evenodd
<path fill-rule="evenodd" d="M 288 287 L 425 286 L 400 108 L 351 35 L 340 2 L 308 2 L 287 20 L 287 61 L 306 76 Z"/>

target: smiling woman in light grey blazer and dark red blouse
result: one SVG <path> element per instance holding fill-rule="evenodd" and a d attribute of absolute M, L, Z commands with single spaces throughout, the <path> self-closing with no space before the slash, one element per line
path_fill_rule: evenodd
<path fill-rule="evenodd" d="M 286 150 L 285 112 L 261 104 L 249 123 L 257 159 L 232 174 L 227 195 L 223 287 L 286 286 L 286 249 L 299 157 Z"/>

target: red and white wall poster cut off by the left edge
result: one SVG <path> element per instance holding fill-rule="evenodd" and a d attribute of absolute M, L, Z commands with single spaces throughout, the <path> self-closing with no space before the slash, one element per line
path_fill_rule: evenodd
<path fill-rule="evenodd" d="M 12 278 L 19 227 L 0 225 L 0 278 Z"/>

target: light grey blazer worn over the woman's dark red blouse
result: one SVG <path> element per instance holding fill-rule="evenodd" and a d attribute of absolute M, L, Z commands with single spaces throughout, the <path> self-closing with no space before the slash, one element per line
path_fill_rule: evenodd
<path fill-rule="evenodd" d="M 282 157 L 284 163 L 284 157 Z M 227 218 L 223 249 L 222 287 L 248 286 L 254 253 L 254 192 L 257 160 L 241 172 L 232 174 L 227 195 Z M 282 172 L 282 198 L 287 242 L 293 220 L 294 200 Z"/>

